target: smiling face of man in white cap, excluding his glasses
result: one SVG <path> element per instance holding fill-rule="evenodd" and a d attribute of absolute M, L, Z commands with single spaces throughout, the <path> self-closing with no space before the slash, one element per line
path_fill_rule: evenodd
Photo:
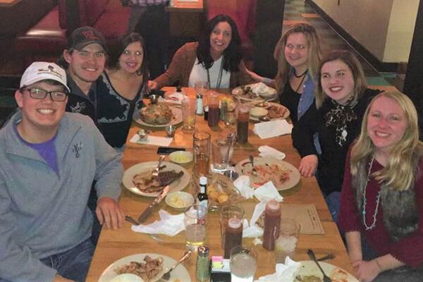
<path fill-rule="evenodd" d="M 46 82 L 36 82 L 25 88 L 39 88 L 46 91 L 64 91 L 62 85 L 49 85 Z M 15 93 L 15 99 L 22 109 L 22 125 L 27 133 L 56 133 L 59 122 L 65 114 L 66 98 L 63 102 L 51 100 L 50 95 L 44 99 L 33 99 L 30 92 L 19 90 Z"/>

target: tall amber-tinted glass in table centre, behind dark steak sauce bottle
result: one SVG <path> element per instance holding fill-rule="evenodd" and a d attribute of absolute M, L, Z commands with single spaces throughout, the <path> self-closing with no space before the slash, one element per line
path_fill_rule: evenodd
<path fill-rule="evenodd" d="M 203 131 L 194 133 L 192 143 L 192 154 L 194 157 L 194 166 L 192 175 L 195 178 L 207 176 L 210 167 L 210 134 Z"/>

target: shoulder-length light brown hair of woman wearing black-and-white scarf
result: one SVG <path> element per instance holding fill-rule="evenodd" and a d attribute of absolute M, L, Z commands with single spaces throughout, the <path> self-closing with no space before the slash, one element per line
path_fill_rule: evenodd
<path fill-rule="evenodd" d="M 357 57 L 351 53 L 350 51 L 346 50 L 333 50 L 326 54 L 324 58 L 320 62 L 319 66 L 319 79 L 317 82 L 316 87 L 316 107 L 319 109 L 321 105 L 323 104 L 324 100 L 326 99 L 327 95 L 321 88 L 321 68 L 325 63 L 328 63 L 330 61 L 336 61 L 340 60 L 345 63 L 348 68 L 350 68 L 351 73 L 353 73 L 353 80 L 354 80 L 354 100 L 357 101 L 362 97 L 362 94 L 364 94 L 364 90 L 367 89 L 367 81 L 364 77 L 364 71 L 362 69 L 362 66 L 360 64 L 360 61 L 358 61 Z"/>

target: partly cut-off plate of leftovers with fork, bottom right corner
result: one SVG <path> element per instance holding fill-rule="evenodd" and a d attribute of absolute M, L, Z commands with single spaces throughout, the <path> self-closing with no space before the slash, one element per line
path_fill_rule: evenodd
<path fill-rule="evenodd" d="M 300 270 L 294 282 L 323 282 L 323 275 L 313 261 L 307 260 L 300 263 Z M 332 282 L 359 282 L 352 274 L 338 266 L 327 262 L 319 262 L 319 264 Z"/>

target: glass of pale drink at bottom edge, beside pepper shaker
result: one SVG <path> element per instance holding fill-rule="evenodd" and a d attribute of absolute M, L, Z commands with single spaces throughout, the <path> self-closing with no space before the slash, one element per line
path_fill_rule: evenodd
<path fill-rule="evenodd" d="M 233 247 L 229 264 L 232 282 L 252 282 L 257 270 L 257 251 L 247 246 Z"/>

